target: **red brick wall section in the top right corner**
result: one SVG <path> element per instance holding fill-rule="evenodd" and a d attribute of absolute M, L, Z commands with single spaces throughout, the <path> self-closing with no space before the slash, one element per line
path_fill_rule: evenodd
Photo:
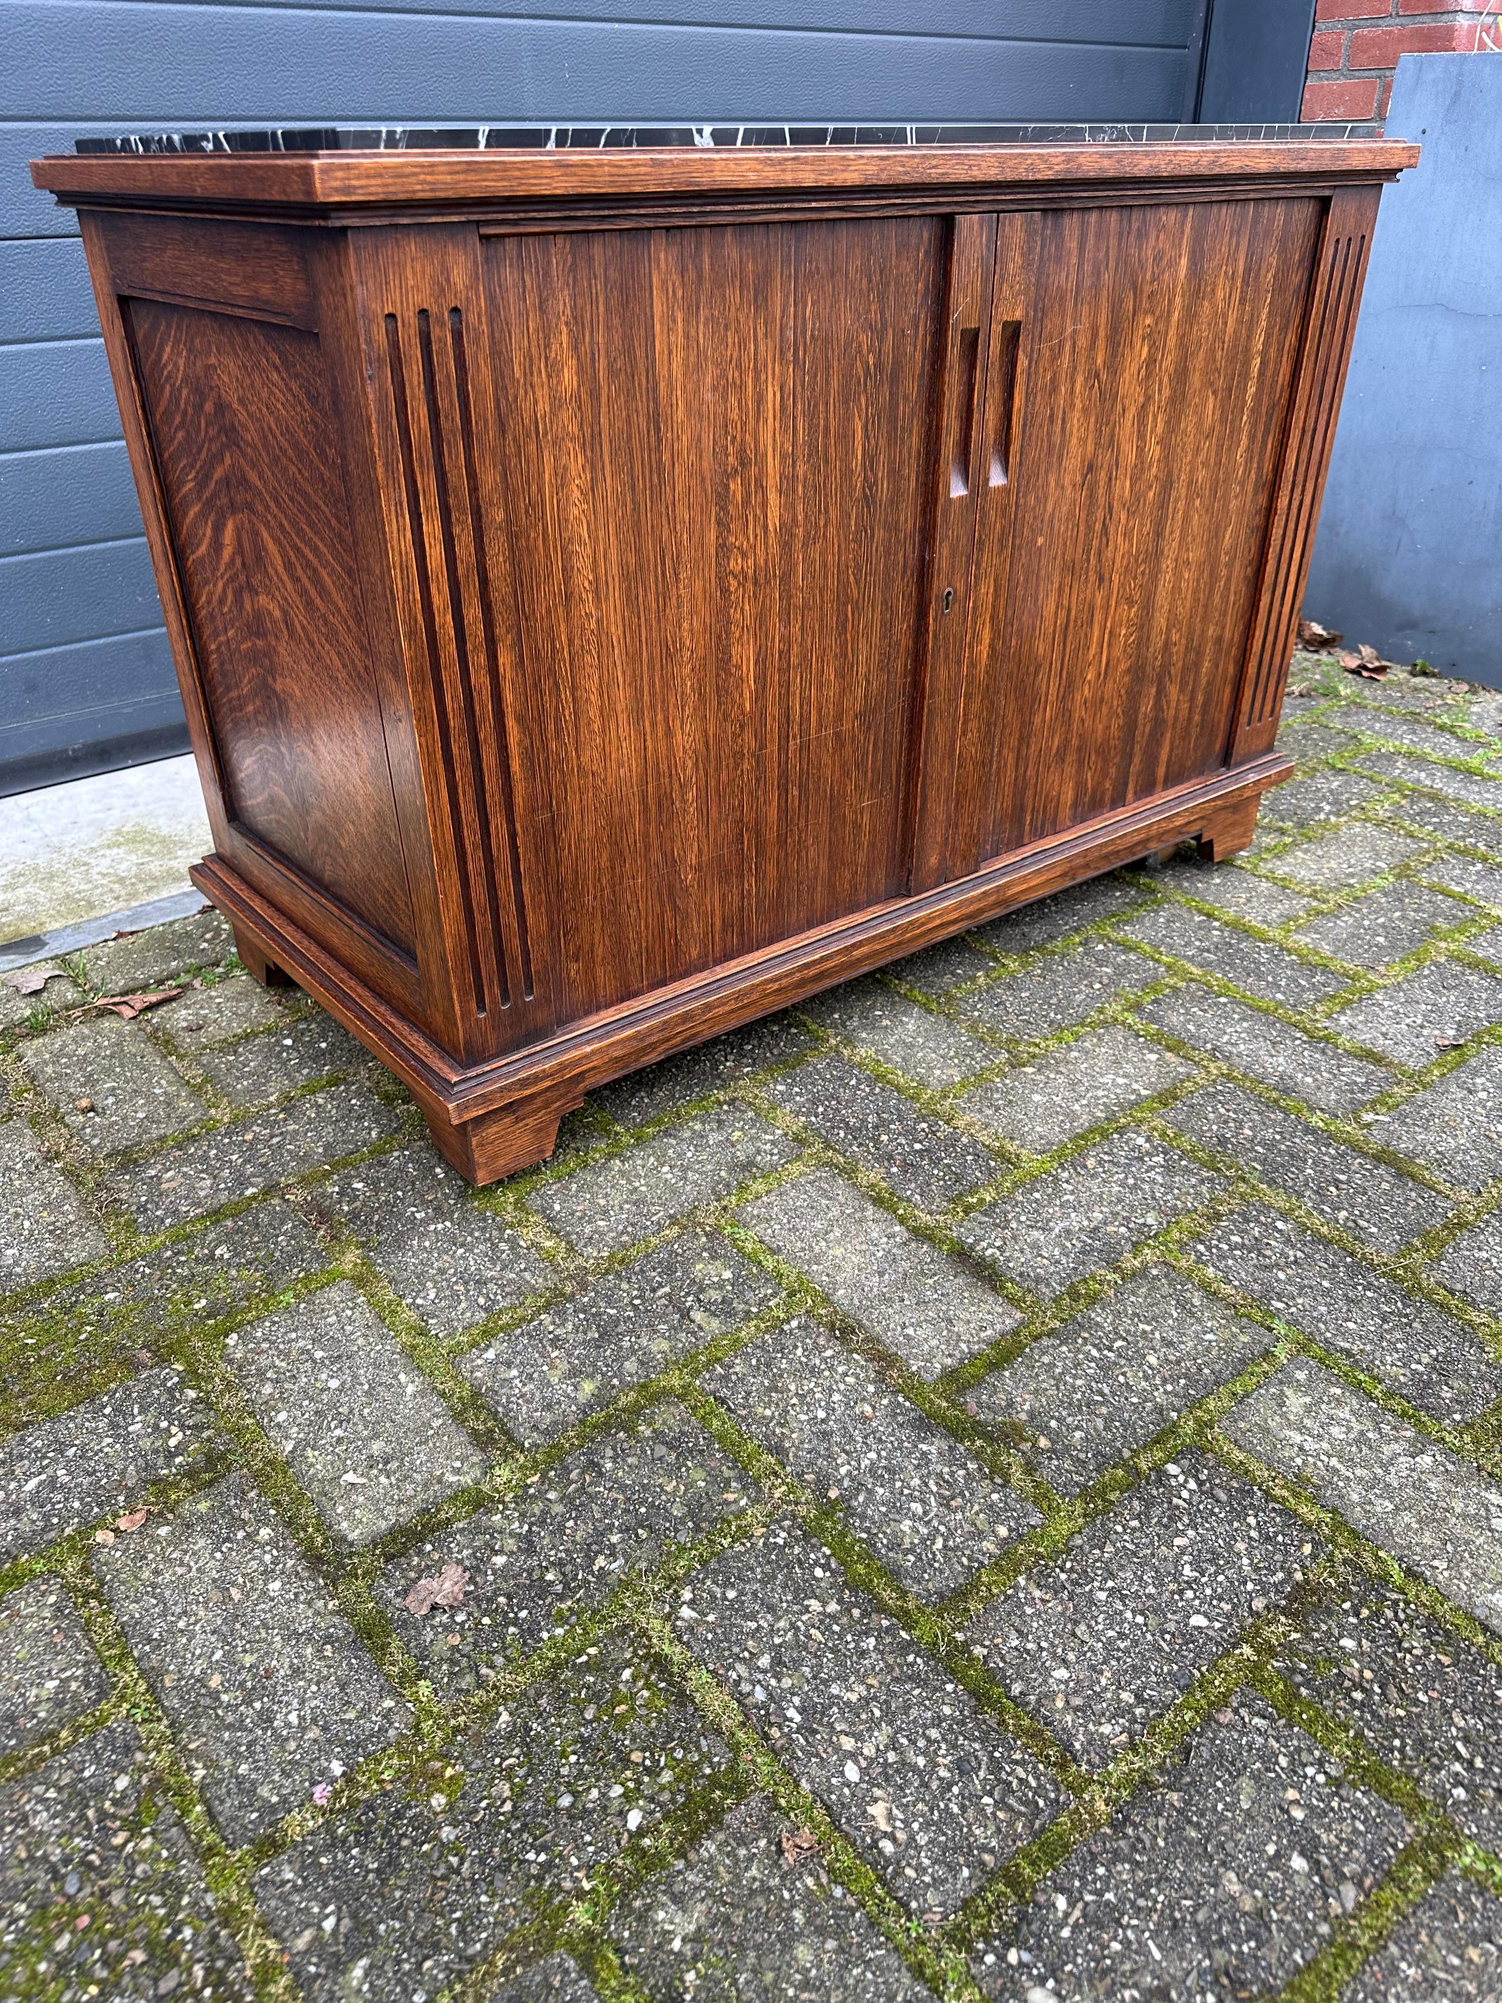
<path fill-rule="evenodd" d="M 1502 48 L 1502 0 L 1318 0 L 1302 118 L 1384 118 L 1398 56 Z"/>

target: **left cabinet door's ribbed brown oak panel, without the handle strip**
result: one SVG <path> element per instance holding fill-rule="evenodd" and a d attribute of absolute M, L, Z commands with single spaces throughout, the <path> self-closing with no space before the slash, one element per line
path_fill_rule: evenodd
<path fill-rule="evenodd" d="M 559 1016 L 905 885 L 945 226 L 495 238 Z"/>

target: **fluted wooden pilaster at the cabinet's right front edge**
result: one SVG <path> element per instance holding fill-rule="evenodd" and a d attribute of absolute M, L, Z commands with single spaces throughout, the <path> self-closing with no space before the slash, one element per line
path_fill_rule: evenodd
<path fill-rule="evenodd" d="M 1340 393 L 1356 335 L 1378 194 L 1378 188 L 1342 188 L 1330 198 L 1320 232 L 1284 459 L 1268 517 L 1262 581 L 1236 703 L 1228 759 L 1232 765 L 1272 749 L 1278 735 L 1278 711 L 1336 441 Z"/>

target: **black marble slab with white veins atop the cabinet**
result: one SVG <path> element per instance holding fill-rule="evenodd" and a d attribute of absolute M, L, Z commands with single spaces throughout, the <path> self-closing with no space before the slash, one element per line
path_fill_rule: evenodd
<path fill-rule="evenodd" d="M 126 132 L 76 152 L 467 152 L 615 146 L 1198 146 L 1208 140 L 1380 138 L 1376 124 L 687 124 L 687 126 L 262 126 L 248 132 Z"/>

